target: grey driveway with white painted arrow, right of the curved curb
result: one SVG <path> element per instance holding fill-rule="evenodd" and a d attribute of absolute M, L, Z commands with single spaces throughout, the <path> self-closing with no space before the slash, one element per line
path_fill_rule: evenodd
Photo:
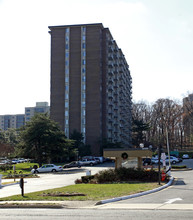
<path fill-rule="evenodd" d="M 193 160 L 184 163 L 193 167 Z M 174 184 L 165 190 L 149 195 L 113 202 L 97 207 L 98 209 L 182 209 L 193 210 L 193 170 L 172 171 Z M 193 217 L 192 217 L 193 218 Z"/>

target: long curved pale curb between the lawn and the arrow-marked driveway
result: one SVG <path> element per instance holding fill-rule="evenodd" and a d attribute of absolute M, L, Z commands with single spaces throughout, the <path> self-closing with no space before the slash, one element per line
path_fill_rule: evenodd
<path fill-rule="evenodd" d="M 113 198 L 113 199 L 101 200 L 101 201 L 97 202 L 95 205 L 103 205 L 103 204 L 106 204 L 106 203 L 118 202 L 118 201 L 121 201 L 121 200 L 136 198 L 136 197 L 139 197 L 139 196 L 144 196 L 144 195 L 147 195 L 147 194 L 150 194 L 150 193 L 158 192 L 158 191 L 160 191 L 162 189 L 165 189 L 168 186 L 170 186 L 173 183 L 173 181 L 174 181 L 174 177 L 171 177 L 170 181 L 167 184 L 165 184 L 163 186 L 160 186 L 158 188 L 148 190 L 148 191 L 145 191 L 145 192 L 141 192 L 141 193 L 136 193 L 136 194 L 129 195 L 129 196 L 123 196 L 123 197 L 117 197 L 117 198 Z"/>

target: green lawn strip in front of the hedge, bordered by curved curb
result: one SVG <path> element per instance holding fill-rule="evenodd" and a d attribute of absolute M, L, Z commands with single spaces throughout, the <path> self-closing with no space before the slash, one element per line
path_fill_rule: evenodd
<path fill-rule="evenodd" d="M 44 190 L 34 193 L 0 198 L 0 201 L 25 201 L 25 200 L 49 200 L 49 201 L 99 201 L 119 196 L 131 195 L 159 187 L 158 183 L 123 183 L 123 184 L 76 184 L 57 189 Z M 25 189 L 24 189 L 25 192 Z M 79 193 L 85 196 L 49 196 L 49 194 Z M 43 196 L 45 195 L 45 196 Z"/>

